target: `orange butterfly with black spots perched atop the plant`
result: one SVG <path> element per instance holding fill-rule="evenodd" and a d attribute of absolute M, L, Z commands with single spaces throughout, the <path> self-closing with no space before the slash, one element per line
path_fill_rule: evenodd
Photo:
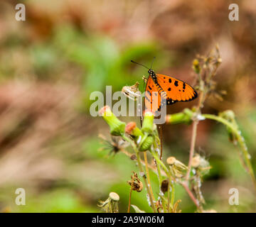
<path fill-rule="evenodd" d="M 191 101 L 198 96 L 196 90 L 186 82 L 164 74 L 156 74 L 153 70 L 146 68 L 149 72 L 145 92 L 147 111 L 155 113 L 161 109 L 161 106 L 175 104 L 177 101 Z"/>

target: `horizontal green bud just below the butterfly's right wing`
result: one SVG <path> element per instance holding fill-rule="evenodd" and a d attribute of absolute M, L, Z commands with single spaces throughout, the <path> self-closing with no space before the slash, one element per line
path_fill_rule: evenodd
<path fill-rule="evenodd" d="M 169 114 L 166 116 L 166 123 L 191 123 L 193 111 L 190 109 L 184 109 L 183 112 L 177 114 Z"/>

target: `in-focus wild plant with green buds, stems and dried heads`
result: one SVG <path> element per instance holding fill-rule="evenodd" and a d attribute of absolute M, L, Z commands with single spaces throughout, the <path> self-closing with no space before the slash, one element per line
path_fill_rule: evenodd
<path fill-rule="evenodd" d="M 143 212 L 137 206 L 131 205 L 132 191 L 142 192 L 146 190 L 147 201 L 151 206 L 152 211 L 159 213 L 176 213 L 181 212 L 178 209 L 180 199 L 175 196 L 175 184 L 180 184 L 190 196 L 191 201 L 196 205 L 196 211 L 207 212 L 203 209 L 205 199 L 201 192 L 201 184 L 203 176 L 210 171 L 210 163 L 205 157 L 202 157 L 195 152 L 197 127 L 200 121 L 206 119 L 218 121 L 227 129 L 230 141 L 238 146 L 240 152 L 240 160 L 245 170 L 249 173 L 253 184 L 256 188 L 255 175 L 250 162 L 250 155 L 245 145 L 245 140 L 242 137 L 238 123 L 235 121 L 235 114 L 231 110 L 223 111 L 215 116 L 213 114 L 202 114 L 203 104 L 210 95 L 220 96 L 220 93 L 215 91 L 214 77 L 221 63 L 218 46 L 212 50 L 207 56 L 198 55 L 193 61 L 193 71 L 197 76 L 197 90 L 199 99 L 197 106 L 192 109 L 184 109 L 177 114 L 166 116 L 166 124 L 186 123 L 192 124 L 191 146 L 188 157 L 188 164 L 176 159 L 176 157 L 168 157 L 166 160 L 161 159 L 161 136 L 159 136 L 157 126 L 154 124 L 154 114 L 150 111 L 144 113 L 142 127 L 138 127 L 137 123 L 124 123 L 114 116 L 109 106 L 104 106 L 100 110 L 100 116 L 110 126 L 110 134 L 114 138 L 118 137 L 121 142 L 109 142 L 112 145 L 112 150 L 117 153 L 128 155 L 132 160 L 137 162 L 139 175 L 136 172 L 128 181 L 130 187 L 129 206 L 134 208 L 136 212 Z M 134 86 L 125 87 L 126 95 L 134 94 Z M 222 92 L 224 93 L 224 92 Z M 134 96 L 132 97 L 134 98 Z M 117 140 L 117 139 L 114 139 Z M 126 143 L 124 143 L 126 141 Z M 122 144 L 122 145 L 120 145 Z M 124 145 L 126 144 L 126 145 Z M 129 153 L 125 148 L 127 144 L 132 147 L 133 153 Z M 154 160 L 154 165 L 149 165 L 148 158 Z M 154 197 L 151 187 L 149 170 L 154 172 L 158 177 L 159 192 L 158 198 Z M 142 178 L 142 180 L 140 178 Z M 107 200 L 108 201 L 108 200 Z M 210 210 L 208 212 L 215 212 Z"/>

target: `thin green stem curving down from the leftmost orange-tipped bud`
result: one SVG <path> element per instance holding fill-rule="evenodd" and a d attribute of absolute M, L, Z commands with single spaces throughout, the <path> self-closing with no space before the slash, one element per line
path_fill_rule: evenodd
<path fill-rule="evenodd" d="M 136 153 L 139 171 L 144 173 L 144 176 L 142 178 L 144 179 L 144 184 L 146 186 L 146 192 L 149 194 L 150 205 L 151 205 L 151 208 L 153 209 L 154 213 L 156 213 L 156 207 L 154 206 L 153 194 L 151 194 L 151 192 L 150 192 L 149 185 L 148 185 L 148 182 L 145 177 L 145 172 L 143 170 L 141 159 L 139 157 L 139 150 L 137 150 L 137 146 L 135 145 L 134 141 L 129 139 L 127 136 L 122 135 L 122 138 L 124 140 L 126 140 L 130 145 L 132 145 L 132 148 L 134 149 L 134 152 Z"/>

